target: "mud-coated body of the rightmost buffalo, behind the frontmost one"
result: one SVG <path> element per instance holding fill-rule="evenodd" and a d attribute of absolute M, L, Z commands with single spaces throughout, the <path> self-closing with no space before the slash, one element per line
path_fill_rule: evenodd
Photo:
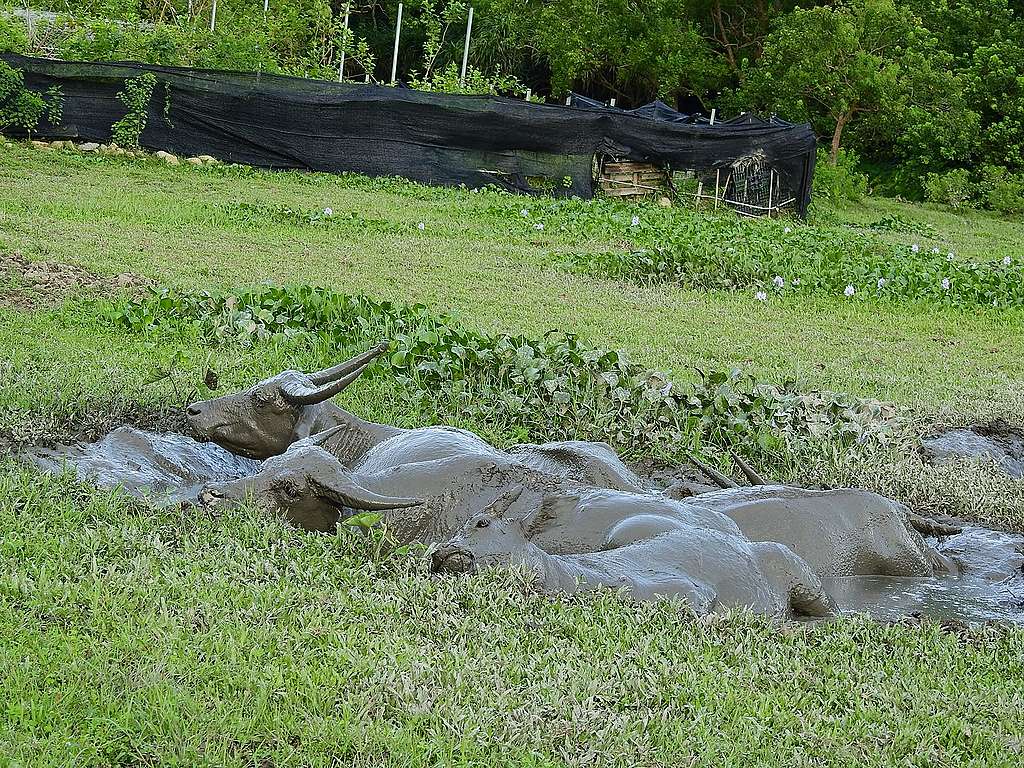
<path fill-rule="evenodd" d="M 755 485 L 686 503 L 731 518 L 755 542 L 779 542 L 821 577 L 932 577 L 955 571 L 909 524 L 909 510 L 859 488 Z"/>

